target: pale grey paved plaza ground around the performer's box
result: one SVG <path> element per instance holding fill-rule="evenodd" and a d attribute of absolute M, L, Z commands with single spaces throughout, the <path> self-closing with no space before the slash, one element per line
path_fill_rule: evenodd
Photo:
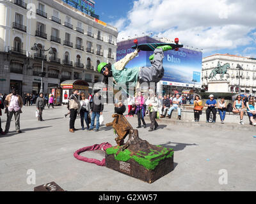
<path fill-rule="evenodd" d="M 115 144 L 113 129 L 99 132 L 68 132 L 67 108 L 46 109 L 45 121 L 35 118 L 35 106 L 25 106 L 20 115 L 22 133 L 16 133 L 12 120 L 10 133 L 0 136 L 0 191 L 33 191 L 35 186 L 55 181 L 67 191 L 255 191 L 256 135 L 252 126 L 176 122 L 160 120 L 157 131 L 140 128 L 139 136 L 154 145 L 174 149 L 175 168 L 152 184 L 147 184 L 109 168 L 74 158 L 74 151 L 95 143 Z M 111 122 L 113 105 L 104 107 L 104 122 Z M 2 117 L 4 129 L 6 115 Z M 136 128 L 137 118 L 129 118 Z M 161 122 L 162 121 L 162 122 Z M 225 125 L 227 125 L 225 127 Z M 248 127 L 248 129 L 246 128 Z M 84 152 L 102 159 L 100 152 Z M 35 170 L 36 184 L 27 184 L 27 171 Z M 219 178 L 227 170 L 227 184 Z"/>

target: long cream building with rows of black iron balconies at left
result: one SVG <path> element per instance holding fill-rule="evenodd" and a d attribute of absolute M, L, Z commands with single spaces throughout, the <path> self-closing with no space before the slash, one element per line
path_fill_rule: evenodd
<path fill-rule="evenodd" d="M 64 80 L 102 80 L 100 62 L 116 61 L 115 27 L 86 15 L 60 0 L 0 0 L 0 92 L 17 87 L 39 92 L 42 52 L 45 52 L 44 90 Z"/>

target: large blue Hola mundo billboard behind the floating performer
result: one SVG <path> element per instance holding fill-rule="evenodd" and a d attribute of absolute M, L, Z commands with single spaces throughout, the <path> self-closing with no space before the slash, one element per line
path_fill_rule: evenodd
<path fill-rule="evenodd" d="M 148 36 L 138 38 L 138 43 L 156 43 L 160 42 L 149 38 Z M 116 61 L 122 59 L 126 54 L 133 52 L 131 47 L 134 45 L 133 40 L 122 41 L 118 43 L 116 50 Z M 127 68 L 150 66 L 148 57 L 152 52 L 139 52 L 138 57 L 135 57 L 127 64 Z M 201 71 L 202 71 L 202 52 L 179 48 L 179 51 L 168 50 L 164 52 L 163 59 L 164 77 L 162 84 L 180 85 L 184 87 L 200 87 Z"/>

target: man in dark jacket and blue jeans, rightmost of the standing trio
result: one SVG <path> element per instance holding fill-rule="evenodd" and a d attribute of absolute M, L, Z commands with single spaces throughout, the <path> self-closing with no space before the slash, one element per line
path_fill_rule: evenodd
<path fill-rule="evenodd" d="M 93 101 L 92 101 L 92 117 L 91 117 L 91 126 L 89 130 L 92 130 L 94 128 L 94 120 L 96 117 L 96 129 L 95 131 L 99 131 L 100 128 L 100 115 L 102 115 L 102 111 L 103 111 L 104 105 L 102 104 L 101 101 L 101 96 L 99 94 L 99 90 L 95 91 L 95 94 L 93 96 Z"/>

